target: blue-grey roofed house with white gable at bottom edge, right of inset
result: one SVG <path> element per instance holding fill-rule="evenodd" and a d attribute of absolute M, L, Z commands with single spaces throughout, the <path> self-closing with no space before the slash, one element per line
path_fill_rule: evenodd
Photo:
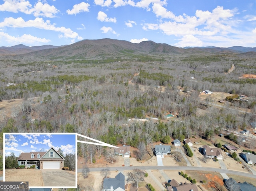
<path fill-rule="evenodd" d="M 118 173 L 115 178 L 105 178 L 102 191 L 124 191 L 124 175 Z"/>

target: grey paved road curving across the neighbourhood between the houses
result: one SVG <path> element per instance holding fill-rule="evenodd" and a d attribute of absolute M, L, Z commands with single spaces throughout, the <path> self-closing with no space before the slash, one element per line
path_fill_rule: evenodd
<path fill-rule="evenodd" d="M 124 166 L 124 167 L 108 167 L 110 171 L 124 171 L 124 170 L 131 170 L 134 168 L 142 169 L 142 170 L 194 170 L 194 171 L 211 171 L 211 172 L 219 172 L 219 173 L 227 173 L 227 174 L 234 174 L 239 176 L 245 176 L 250 178 L 256 178 L 256 175 L 250 173 L 244 173 L 240 171 L 228 170 L 228 169 L 220 169 L 220 168 L 211 168 L 211 167 L 195 167 L 195 166 Z M 102 168 L 90 168 L 91 172 L 99 172 Z M 82 169 L 78 169 L 78 172 L 82 172 Z"/>

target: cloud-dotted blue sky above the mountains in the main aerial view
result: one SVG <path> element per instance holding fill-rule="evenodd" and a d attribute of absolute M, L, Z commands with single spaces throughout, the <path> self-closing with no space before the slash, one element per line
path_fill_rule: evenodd
<path fill-rule="evenodd" d="M 0 0 L 0 46 L 82 39 L 177 47 L 256 44 L 256 0 Z"/>

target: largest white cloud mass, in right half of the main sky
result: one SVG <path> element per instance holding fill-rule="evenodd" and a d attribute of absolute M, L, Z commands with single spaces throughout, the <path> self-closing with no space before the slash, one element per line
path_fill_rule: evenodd
<path fill-rule="evenodd" d="M 159 21 L 159 24 L 144 24 L 144 30 L 160 30 L 166 35 L 215 35 L 217 33 L 227 34 L 231 32 L 230 18 L 234 16 L 234 10 L 224 10 L 217 6 L 212 12 L 196 10 L 196 16 L 175 16 L 167 11 L 162 4 L 154 4 L 153 12 L 157 17 L 168 19 Z"/>

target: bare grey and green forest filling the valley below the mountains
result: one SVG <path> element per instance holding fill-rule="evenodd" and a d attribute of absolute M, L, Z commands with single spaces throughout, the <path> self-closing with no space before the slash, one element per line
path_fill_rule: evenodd
<path fill-rule="evenodd" d="M 114 43 L 109 55 L 88 45 L 85 49 L 80 42 L 70 45 L 67 57 L 56 55 L 68 46 L 0 56 L 0 100 L 24 99 L 11 108 L 10 116 L 0 108 L 0 131 L 78 132 L 109 144 L 137 147 L 141 142 L 148 146 L 164 141 L 166 136 L 210 139 L 227 128 L 249 128 L 256 120 L 256 79 L 242 78 L 256 74 L 254 52 L 138 52 Z M 231 100 L 219 108 L 210 98 L 200 100 L 204 90 L 250 99 Z M 165 120 L 170 112 L 176 115 Z M 93 145 L 79 145 L 79 151 L 91 161 L 103 154 L 100 146 Z"/>

